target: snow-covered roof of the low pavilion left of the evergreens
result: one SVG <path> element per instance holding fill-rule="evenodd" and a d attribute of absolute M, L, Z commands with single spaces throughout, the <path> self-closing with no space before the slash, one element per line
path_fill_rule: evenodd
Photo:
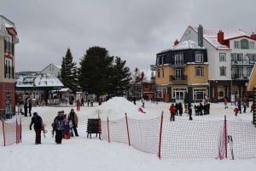
<path fill-rule="evenodd" d="M 63 87 L 63 84 L 54 74 L 32 74 L 20 75 L 16 78 L 17 88 L 47 88 L 47 87 Z"/>

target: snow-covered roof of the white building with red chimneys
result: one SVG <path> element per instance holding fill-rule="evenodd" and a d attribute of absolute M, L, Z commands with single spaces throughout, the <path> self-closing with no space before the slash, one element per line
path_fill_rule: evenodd
<path fill-rule="evenodd" d="M 190 26 L 195 32 L 198 32 L 198 27 Z M 228 46 L 218 43 L 218 31 L 219 29 L 212 29 L 212 28 L 203 28 L 203 37 L 204 39 L 212 44 L 214 48 L 228 50 L 230 49 Z M 233 39 L 236 37 L 251 37 L 246 32 L 232 29 L 221 29 L 224 32 L 224 40 Z"/>

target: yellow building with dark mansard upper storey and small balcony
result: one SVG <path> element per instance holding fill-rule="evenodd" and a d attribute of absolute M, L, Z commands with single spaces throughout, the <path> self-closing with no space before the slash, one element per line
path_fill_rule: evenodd
<path fill-rule="evenodd" d="M 201 101 L 208 96 L 207 49 L 189 40 L 157 54 L 155 84 L 160 100 Z"/>

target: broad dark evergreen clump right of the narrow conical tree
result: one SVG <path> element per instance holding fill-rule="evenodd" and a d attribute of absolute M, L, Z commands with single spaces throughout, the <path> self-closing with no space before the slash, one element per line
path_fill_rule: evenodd
<path fill-rule="evenodd" d="M 106 48 L 89 48 L 80 61 L 79 85 L 89 94 L 123 94 L 130 80 L 125 61 L 119 57 L 114 60 Z"/>

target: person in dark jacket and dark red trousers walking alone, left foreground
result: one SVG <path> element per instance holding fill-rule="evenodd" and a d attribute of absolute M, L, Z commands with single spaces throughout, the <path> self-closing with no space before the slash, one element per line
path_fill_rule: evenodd
<path fill-rule="evenodd" d="M 34 130 L 36 133 L 35 144 L 41 144 L 41 131 L 44 131 L 44 123 L 42 117 L 40 117 L 37 112 L 34 112 L 33 117 L 31 118 L 31 123 L 29 125 L 30 130 L 32 130 L 32 125 L 34 125 Z"/>

